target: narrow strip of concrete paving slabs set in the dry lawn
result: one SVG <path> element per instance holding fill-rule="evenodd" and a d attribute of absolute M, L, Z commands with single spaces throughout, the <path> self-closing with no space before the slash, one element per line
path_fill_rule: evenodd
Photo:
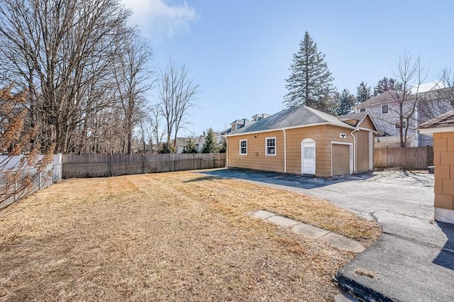
<path fill-rule="evenodd" d="M 314 227 L 314 225 L 309 225 L 306 223 L 301 223 L 301 221 L 293 220 L 284 216 L 279 216 L 276 213 L 268 211 L 253 211 L 249 213 L 250 216 L 255 218 L 260 218 L 270 223 L 275 223 L 284 228 L 291 228 L 295 233 L 299 233 L 309 238 L 321 239 L 329 245 L 338 248 L 339 250 L 347 250 L 350 252 L 363 252 L 365 247 L 363 247 L 360 242 L 349 239 L 342 235 L 332 233 L 329 230 L 323 230 L 322 228 Z"/>

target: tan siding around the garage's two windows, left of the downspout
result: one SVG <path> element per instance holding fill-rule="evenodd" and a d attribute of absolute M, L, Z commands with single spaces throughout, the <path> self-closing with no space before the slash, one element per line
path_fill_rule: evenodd
<path fill-rule="evenodd" d="M 255 138 L 257 135 L 257 138 Z M 265 138 L 276 138 L 276 155 L 265 155 Z M 240 140 L 248 140 L 248 155 L 240 155 Z M 282 130 L 228 138 L 228 167 L 284 172 Z"/>

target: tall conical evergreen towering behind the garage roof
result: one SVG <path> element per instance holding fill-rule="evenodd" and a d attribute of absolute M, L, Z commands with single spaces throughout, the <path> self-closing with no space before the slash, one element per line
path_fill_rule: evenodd
<path fill-rule="evenodd" d="M 285 79 L 285 88 L 289 92 L 284 96 L 284 105 L 290 108 L 306 105 L 333 113 L 336 89 L 332 84 L 331 72 L 324 62 L 325 55 L 319 52 L 308 32 L 304 34 L 299 47 L 289 68 L 292 74 Z"/>

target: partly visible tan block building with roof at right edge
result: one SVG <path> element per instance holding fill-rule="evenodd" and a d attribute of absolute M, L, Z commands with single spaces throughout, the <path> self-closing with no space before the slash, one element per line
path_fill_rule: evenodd
<path fill-rule="evenodd" d="M 435 219 L 454 223 L 454 110 L 422 123 L 417 130 L 433 136 Z"/>

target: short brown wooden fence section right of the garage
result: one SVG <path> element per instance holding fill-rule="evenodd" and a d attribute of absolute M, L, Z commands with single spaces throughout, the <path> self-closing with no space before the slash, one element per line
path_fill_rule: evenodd
<path fill-rule="evenodd" d="M 385 147 L 374 149 L 376 168 L 427 169 L 433 165 L 433 147 Z"/>

